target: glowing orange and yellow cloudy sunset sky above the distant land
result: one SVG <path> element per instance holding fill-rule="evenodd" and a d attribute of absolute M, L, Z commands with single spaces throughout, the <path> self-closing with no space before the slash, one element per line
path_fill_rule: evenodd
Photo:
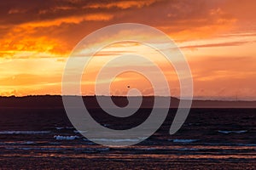
<path fill-rule="evenodd" d="M 131 22 L 153 26 L 177 43 L 189 62 L 195 99 L 255 100 L 255 8 L 254 0 L 1 1 L 0 95 L 61 94 L 63 69 L 74 46 L 103 26 Z M 97 54 L 88 67 L 90 77 L 102 60 L 126 46 L 115 44 Z M 154 51 L 143 51 L 156 57 Z M 175 73 L 159 62 L 178 97 Z M 93 78 L 86 81 L 83 93 L 93 94 Z M 135 73 L 117 77 L 113 94 L 125 94 L 127 83 L 151 94 L 150 83 Z"/>

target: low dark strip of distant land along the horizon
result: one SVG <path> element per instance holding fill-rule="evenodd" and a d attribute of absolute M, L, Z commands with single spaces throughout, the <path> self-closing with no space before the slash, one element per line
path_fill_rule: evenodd
<path fill-rule="evenodd" d="M 69 96 L 76 97 L 76 96 Z M 99 96 L 106 97 L 106 96 Z M 119 106 L 128 104 L 125 96 L 111 96 Z M 133 97 L 136 98 L 136 97 Z M 166 97 L 157 97 L 166 98 Z M 88 108 L 98 108 L 96 96 L 83 96 L 84 105 Z M 180 99 L 171 98 L 170 108 L 177 108 Z M 141 108 L 152 108 L 154 96 L 143 96 Z M 0 108 L 58 108 L 63 107 L 61 95 L 38 95 L 24 97 L 0 97 Z M 192 108 L 256 108 L 256 101 L 224 101 L 224 100 L 193 100 Z"/>

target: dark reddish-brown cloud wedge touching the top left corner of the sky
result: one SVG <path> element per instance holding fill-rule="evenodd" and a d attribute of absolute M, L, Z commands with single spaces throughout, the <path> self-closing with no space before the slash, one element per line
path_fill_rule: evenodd
<path fill-rule="evenodd" d="M 124 8 L 143 8 L 151 1 L 79 1 L 79 0 L 10 0 L 0 2 L 0 24 L 16 25 L 32 21 L 55 20 L 68 16 L 113 13 Z M 124 3 L 125 7 L 122 7 Z M 152 3 L 154 3 L 152 1 Z M 115 5 L 117 4 L 117 5 Z M 136 5 L 140 4 L 140 5 Z"/>

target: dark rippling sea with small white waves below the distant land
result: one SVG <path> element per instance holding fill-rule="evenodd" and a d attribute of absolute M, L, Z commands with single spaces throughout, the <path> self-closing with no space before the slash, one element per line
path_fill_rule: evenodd
<path fill-rule="evenodd" d="M 124 122 L 99 109 L 90 114 L 102 126 L 125 128 L 143 122 L 150 110 Z M 110 148 L 84 138 L 61 108 L 2 108 L 0 169 L 256 169 L 256 109 L 191 109 L 170 135 L 175 114 L 170 109 L 142 143 Z"/>

